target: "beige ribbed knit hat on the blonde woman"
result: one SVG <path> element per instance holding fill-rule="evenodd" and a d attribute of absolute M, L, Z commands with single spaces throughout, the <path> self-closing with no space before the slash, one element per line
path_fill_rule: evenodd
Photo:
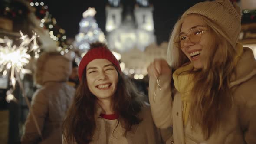
<path fill-rule="evenodd" d="M 241 10 L 229 0 L 215 0 L 197 3 L 190 7 L 183 15 L 200 14 L 215 22 L 228 36 L 233 47 L 236 46 L 241 31 Z"/>

